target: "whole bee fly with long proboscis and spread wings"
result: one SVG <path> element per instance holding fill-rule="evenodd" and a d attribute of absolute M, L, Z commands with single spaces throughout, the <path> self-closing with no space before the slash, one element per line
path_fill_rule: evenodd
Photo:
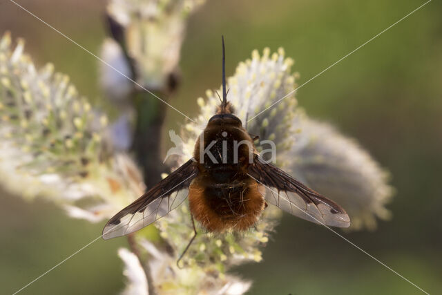
<path fill-rule="evenodd" d="M 104 239 L 150 225 L 187 197 L 195 236 L 193 218 L 207 231 L 245 231 L 256 224 L 267 202 L 311 222 L 349 227 L 342 207 L 259 157 L 227 101 L 224 60 L 223 38 L 222 102 L 198 137 L 193 158 L 113 216 Z"/>

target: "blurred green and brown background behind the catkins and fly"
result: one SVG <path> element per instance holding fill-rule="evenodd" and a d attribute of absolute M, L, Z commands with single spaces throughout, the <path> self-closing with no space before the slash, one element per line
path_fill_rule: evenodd
<path fill-rule="evenodd" d="M 106 1 L 19 1 L 98 54 Z M 424 1 L 208 1 L 191 17 L 182 48 L 182 86 L 171 102 L 190 117 L 195 99 L 220 84 L 220 35 L 227 73 L 251 50 L 282 46 L 299 84 Z M 389 222 L 343 233 L 430 294 L 442 289 L 442 5 L 432 1 L 298 91 L 300 105 L 355 137 L 392 175 Z M 80 93 L 103 104 L 98 61 L 10 1 L 0 3 L 0 33 L 26 39 L 35 62 L 50 61 Z M 166 128 L 184 118 L 168 110 Z M 166 151 L 165 146 L 164 151 Z M 97 238 L 103 224 L 65 216 L 55 205 L 0 192 L 0 286 L 11 294 Z M 104 222 L 102 222 L 104 223 Z M 98 240 L 22 294 L 117 294 L 124 287 L 117 248 Z M 264 261 L 235 272 L 250 294 L 419 294 L 419 289 L 323 227 L 285 215 Z"/>

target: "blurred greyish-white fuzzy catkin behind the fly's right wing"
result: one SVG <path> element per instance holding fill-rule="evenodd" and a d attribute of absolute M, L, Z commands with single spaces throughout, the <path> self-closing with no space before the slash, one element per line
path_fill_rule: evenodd
<path fill-rule="evenodd" d="M 341 135 L 329 124 L 305 117 L 302 132 L 284 155 L 294 176 L 342 205 L 350 218 L 350 229 L 376 228 L 376 217 L 390 218 L 385 204 L 394 189 L 390 175 L 356 140 Z"/>

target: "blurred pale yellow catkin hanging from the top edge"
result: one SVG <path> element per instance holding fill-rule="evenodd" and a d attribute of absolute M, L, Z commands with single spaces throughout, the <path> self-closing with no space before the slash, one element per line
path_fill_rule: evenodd
<path fill-rule="evenodd" d="M 112 0 L 108 15 L 124 28 L 124 43 L 136 79 L 148 89 L 162 89 L 177 68 L 185 20 L 204 0 Z"/>

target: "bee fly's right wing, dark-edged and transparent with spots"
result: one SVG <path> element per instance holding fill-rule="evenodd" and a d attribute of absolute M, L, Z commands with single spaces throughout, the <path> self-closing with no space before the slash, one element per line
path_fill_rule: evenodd
<path fill-rule="evenodd" d="M 294 216 L 332 227 L 349 227 L 350 218 L 338 204 L 309 189 L 289 174 L 256 156 L 249 175 L 266 187 L 265 200 Z"/>

